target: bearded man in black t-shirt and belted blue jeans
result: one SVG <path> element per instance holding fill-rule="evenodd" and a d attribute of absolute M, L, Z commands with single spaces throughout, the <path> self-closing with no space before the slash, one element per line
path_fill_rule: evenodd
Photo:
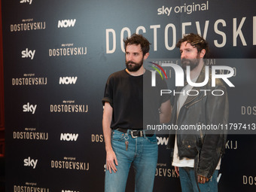
<path fill-rule="evenodd" d="M 143 129 L 144 120 L 167 123 L 169 96 L 160 96 L 165 81 L 151 87 L 151 74 L 143 67 L 150 43 L 142 35 L 126 38 L 126 69 L 110 75 L 105 86 L 103 134 L 106 150 L 105 191 L 124 192 L 133 165 L 137 192 L 150 192 L 157 166 L 157 137 Z M 144 98 L 144 99 L 143 99 Z M 147 110 L 144 117 L 143 109 Z"/>

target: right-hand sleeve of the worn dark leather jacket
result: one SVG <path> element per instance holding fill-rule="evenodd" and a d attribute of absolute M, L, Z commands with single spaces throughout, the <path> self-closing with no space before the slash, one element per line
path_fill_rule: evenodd
<path fill-rule="evenodd" d="M 224 93 L 224 94 L 222 94 Z M 215 94 L 215 95 L 213 95 Z M 221 95 L 222 94 L 222 95 Z M 221 95 L 221 96 L 217 96 Z M 218 166 L 226 144 L 225 130 L 221 130 L 228 121 L 227 90 L 224 86 L 215 87 L 206 100 L 206 124 L 215 129 L 206 130 L 199 154 L 197 175 L 211 178 Z"/>

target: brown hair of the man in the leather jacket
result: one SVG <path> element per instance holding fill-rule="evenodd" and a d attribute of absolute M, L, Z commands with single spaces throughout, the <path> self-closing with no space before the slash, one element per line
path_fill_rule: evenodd
<path fill-rule="evenodd" d="M 206 54 L 204 56 L 204 58 L 208 58 L 209 56 L 209 45 L 208 42 L 202 38 L 200 35 L 194 34 L 194 33 L 190 33 L 188 35 L 184 35 L 183 38 L 181 38 L 181 40 L 178 41 L 178 43 L 176 44 L 176 47 L 181 47 L 181 43 L 187 41 L 187 43 L 191 44 L 193 47 L 197 47 L 197 51 L 198 53 L 201 52 L 201 50 L 205 49 L 206 50 Z"/>

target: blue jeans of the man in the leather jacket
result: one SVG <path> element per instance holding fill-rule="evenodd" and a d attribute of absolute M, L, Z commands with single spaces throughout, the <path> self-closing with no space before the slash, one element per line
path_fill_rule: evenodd
<path fill-rule="evenodd" d="M 198 192 L 197 180 L 195 178 L 194 168 L 179 167 L 179 176 L 181 181 L 182 192 Z M 198 184 L 201 192 L 217 192 L 218 191 L 218 170 L 213 172 L 212 178 L 205 184 Z"/>

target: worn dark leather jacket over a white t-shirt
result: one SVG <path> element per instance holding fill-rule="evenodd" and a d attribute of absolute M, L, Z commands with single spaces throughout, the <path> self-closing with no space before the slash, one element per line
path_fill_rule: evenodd
<path fill-rule="evenodd" d="M 197 82 L 205 80 L 205 66 L 197 78 Z M 177 91 L 181 91 L 179 87 Z M 228 99 L 227 90 L 223 82 L 216 79 L 216 86 L 212 87 L 211 72 L 209 72 L 209 82 L 203 87 L 193 87 L 198 90 L 197 96 L 187 96 L 184 105 L 181 107 L 177 117 L 177 101 L 175 96 L 174 107 L 172 108 L 171 123 L 178 125 L 209 125 L 219 130 L 177 130 L 178 156 L 188 157 L 195 160 L 194 168 L 197 175 L 211 178 L 221 155 L 224 154 L 227 133 L 221 130 L 221 125 L 227 124 L 228 120 Z M 202 91 L 210 90 L 210 91 Z M 212 91 L 214 90 L 213 94 Z M 223 96 L 221 95 L 222 90 Z M 190 95 L 195 94 L 191 92 Z M 175 133 L 170 133 L 167 148 L 174 148 Z"/>

